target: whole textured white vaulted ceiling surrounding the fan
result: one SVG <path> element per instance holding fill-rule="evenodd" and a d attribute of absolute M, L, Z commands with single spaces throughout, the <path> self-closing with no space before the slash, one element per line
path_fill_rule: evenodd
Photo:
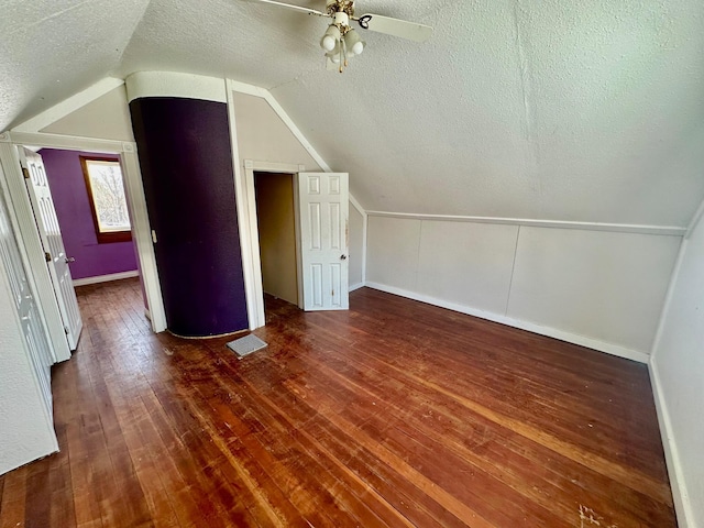
<path fill-rule="evenodd" d="M 686 226 L 704 198 L 701 0 L 356 3 L 436 32 L 366 33 L 340 75 L 326 22 L 271 6 L 0 1 L 0 129 L 105 75 L 189 72 L 270 89 L 367 210 Z"/>

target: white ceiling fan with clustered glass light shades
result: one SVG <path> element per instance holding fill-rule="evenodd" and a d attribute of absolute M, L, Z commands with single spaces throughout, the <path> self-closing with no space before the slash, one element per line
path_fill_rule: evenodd
<path fill-rule="evenodd" d="M 359 33 L 350 26 L 350 21 L 355 21 L 363 30 L 385 33 L 387 35 L 400 36 L 416 42 L 425 42 L 432 35 L 432 28 L 405 20 L 392 19 L 381 14 L 365 13 L 361 16 L 354 14 L 354 0 L 326 0 L 324 11 L 294 6 L 292 3 L 278 2 L 275 0 L 250 0 L 261 3 L 270 3 L 282 8 L 332 19 L 322 38 L 322 47 L 328 59 L 328 69 L 342 73 L 348 66 L 348 59 L 354 55 L 360 55 L 366 43 Z"/>

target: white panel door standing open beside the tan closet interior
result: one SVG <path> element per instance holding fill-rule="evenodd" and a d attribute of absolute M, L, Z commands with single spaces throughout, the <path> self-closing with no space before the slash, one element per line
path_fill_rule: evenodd
<path fill-rule="evenodd" d="M 346 310 L 349 209 L 346 173 L 299 173 L 304 310 Z"/>

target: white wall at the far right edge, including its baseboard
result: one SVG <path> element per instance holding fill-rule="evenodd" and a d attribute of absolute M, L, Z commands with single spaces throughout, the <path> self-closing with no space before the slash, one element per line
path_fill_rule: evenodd
<path fill-rule="evenodd" d="M 650 372 L 683 528 L 704 526 L 704 221 L 684 241 Z"/>

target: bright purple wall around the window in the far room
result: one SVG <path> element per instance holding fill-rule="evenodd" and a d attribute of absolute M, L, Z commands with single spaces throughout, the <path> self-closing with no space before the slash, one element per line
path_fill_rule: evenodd
<path fill-rule="evenodd" d="M 90 212 L 88 189 L 78 156 L 97 155 L 119 161 L 110 154 L 42 148 L 44 168 L 52 189 L 66 255 L 76 258 L 70 264 L 73 278 L 97 277 L 136 270 L 132 242 L 99 244 Z"/>

